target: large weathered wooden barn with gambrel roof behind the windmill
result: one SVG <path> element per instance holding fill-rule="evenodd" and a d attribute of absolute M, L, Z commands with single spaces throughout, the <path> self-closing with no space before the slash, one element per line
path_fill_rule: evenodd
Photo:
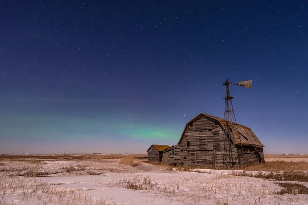
<path fill-rule="evenodd" d="M 162 163 L 225 168 L 264 161 L 264 145 L 250 128 L 233 122 L 228 139 L 225 124 L 219 117 L 199 114 L 187 122 L 178 144 L 164 151 Z"/>

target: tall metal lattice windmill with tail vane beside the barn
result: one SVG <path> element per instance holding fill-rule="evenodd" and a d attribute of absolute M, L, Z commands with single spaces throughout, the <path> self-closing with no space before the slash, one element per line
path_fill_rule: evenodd
<path fill-rule="evenodd" d="M 230 95 L 229 86 L 231 85 L 239 85 L 245 88 L 252 89 L 252 81 L 253 80 L 246 80 L 246 81 L 240 81 L 238 83 L 231 83 L 228 79 L 226 79 L 225 83 L 223 84 L 226 86 L 226 96 L 225 99 L 225 112 L 224 112 L 224 120 L 225 120 L 225 147 L 224 147 L 224 155 L 223 155 L 223 167 L 226 165 L 227 167 L 233 167 L 235 162 L 233 161 L 234 157 L 232 156 L 232 138 L 234 139 L 235 131 L 237 134 L 238 132 L 238 125 L 236 122 L 232 99 L 233 96 Z M 241 140 L 241 138 L 239 137 Z M 240 141 L 241 149 L 243 151 L 242 142 Z M 227 163 L 227 158 L 229 159 L 229 163 Z"/>

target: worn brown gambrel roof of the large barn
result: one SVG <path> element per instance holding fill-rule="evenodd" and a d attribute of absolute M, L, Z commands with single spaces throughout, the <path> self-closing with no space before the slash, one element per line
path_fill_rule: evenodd
<path fill-rule="evenodd" d="M 200 118 L 201 116 L 207 116 L 207 117 L 210 117 L 212 119 L 218 120 L 220 122 L 220 124 L 222 125 L 222 127 L 225 129 L 226 122 L 225 122 L 224 119 L 219 118 L 219 117 L 215 117 L 215 116 L 212 116 L 212 115 L 208 115 L 208 114 L 205 114 L 205 113 L 200 113 L 198 116 L 192 118 L 189 122 L 187 122 L 185 129 L 182 133 L 182 136 L 180 138 L 180 141 L 182 140 L 182 138 L 184 136 L 184 133 L 185 133 L 187 126 L 192 121 L 195 121 L 196 119 Z M 230 121 L 228 121 L 228 122 L 231 123 Z M 255 135 L 255 133 L 250 128 L 245 127 L 245 126 L 240 125 L 240 124 L 235 124 L 235 122 L 233 122 L 233 125 L 237 125 L 237 130 L 230 130 L 231 132 L 234 132 L 232 140 L 235 142 L 235 144 L 256 145 L 256 146 L 264 147 L 264 145 L 260 142 L 258 137 Z"/>

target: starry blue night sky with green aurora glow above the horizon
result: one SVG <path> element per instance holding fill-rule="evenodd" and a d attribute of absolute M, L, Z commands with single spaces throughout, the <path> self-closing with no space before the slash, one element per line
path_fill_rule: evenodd
<path fill-rule="evenodd" d="M 1 1 L 0 153 L 145 153 L 199 113 L 308 154 L 308 1 Z"/>

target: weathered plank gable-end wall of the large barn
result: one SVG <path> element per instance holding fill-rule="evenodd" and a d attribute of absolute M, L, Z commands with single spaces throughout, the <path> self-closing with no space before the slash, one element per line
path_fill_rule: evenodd
<path fill-rule="evenodd" d="M 222 167 L 225 149 L 224 131 L 219 122 L 202 116 L 192 126 L 186 128 L 179 145 L 174 146 L 168 152 L 169 159 L 163 163 L 183 163 L 184 166 L 198 167 Z M 190 142 L 190 147 L 186 142 Z M 228 152 L 228 146 L 226 146 Z M 233 161 L 236 161 L 237 153 L 233 154 Z M 167 154 L 164 154 L 164 158 Z M 226 158 L 225 161 L 229 161 Z"/>

